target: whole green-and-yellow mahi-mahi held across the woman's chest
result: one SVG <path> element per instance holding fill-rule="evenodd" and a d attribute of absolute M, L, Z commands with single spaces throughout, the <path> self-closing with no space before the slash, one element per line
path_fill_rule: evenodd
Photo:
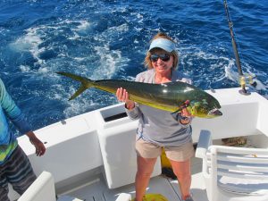
<path fill-rule="evenodd" d="M 214 96 L 185 82 L 150 84 L 128 80 L 89 80 L 69 72 L 57 73 L 81 83 L 80 88 L 69 100 L 79 96 L 87 88 L 98 88 L 113 94 L 116 94 L 117 88 L 125 88 L 129 92 L 130 100 L 140 105 L 148 105 L 171 113 L 180 113 L 182 108 L 186 107 L 193 116 L 201 118 L 222 115 L 219 111 L 221 105 Z"/>

